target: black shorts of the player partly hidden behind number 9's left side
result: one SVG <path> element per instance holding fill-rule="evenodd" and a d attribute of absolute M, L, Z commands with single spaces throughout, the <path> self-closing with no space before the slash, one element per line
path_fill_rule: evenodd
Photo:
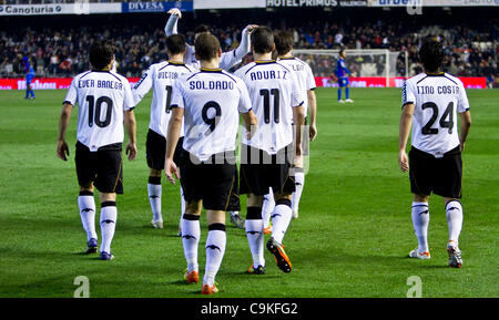
<path fill-rule="evenodd" d="M 182 144 L 184 137 L 179 138 L 179 143 L 175 147 L 175 153 L 173 154 L 173 162 L 179 166 L 180 156 L 182 154 Z M 147 138 L 145 141 L 145 159 L 147 161 L 147 166 L 150 168 L 162 171 L 164 168 L 164 156 L 166 154 L 166 138 L 161 134 L 152 131 L 147 131 Z"/>

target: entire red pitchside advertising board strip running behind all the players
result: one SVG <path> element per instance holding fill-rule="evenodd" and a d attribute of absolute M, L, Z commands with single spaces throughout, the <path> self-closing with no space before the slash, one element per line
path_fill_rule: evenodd
<path fill-rule="evenodd" d="M 129 78 L 130 84 L 133 86 L 140 78 Z M 486 89 L 486 78 L 459 78 L 465 84 L 466 89 Z M 35 78 L 31 82 L 33 90 L 53 90 L 68 89 L 71 85 L 71 78 Z M 384 76 L 352 76 L 349 78 L 352 87 L 386 87 L 387 80 Z M 389 87 L 401 87 L 405 78 L 389 78 Z M 338 83 L 328 76 L 316 76 L 315 83 L 317 86 L 336 87 Z M 24 79 L 0 79 L 0 90 L 26 90 Z"/>

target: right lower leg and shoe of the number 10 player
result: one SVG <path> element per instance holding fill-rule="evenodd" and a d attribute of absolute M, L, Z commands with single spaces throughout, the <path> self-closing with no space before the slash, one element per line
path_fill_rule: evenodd
<path fill-rule="evenodd" d="M 111 254 L 111 242 L 114 237 L 114 230 L 116 228 L 116 194 L 114 193 L 101 193 L 101 248 L 100 259 L 111 260 L 114 256 Z"/>

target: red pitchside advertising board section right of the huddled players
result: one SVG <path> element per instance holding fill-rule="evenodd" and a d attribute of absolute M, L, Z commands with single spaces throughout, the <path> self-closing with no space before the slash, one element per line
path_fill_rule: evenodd
<path fill-rule="evenodd" d="M 485 76 L 464 76 L 459 78 L 466 89 L 486 89 L 487 80 Z M 352 76 L 348 78 L 350 87 L 401 87 L 406 78 L 391 76 L 387 80 L 385 76 Z M 315 83 L 317 86 L 337 87 L 338 83 L 328 76 L 316 76 Z"/>

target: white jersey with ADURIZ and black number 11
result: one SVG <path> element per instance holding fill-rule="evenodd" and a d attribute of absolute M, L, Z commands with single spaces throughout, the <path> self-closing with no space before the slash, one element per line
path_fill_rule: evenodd
<path fill-rule="evenodd" d="M 251 140 L 243 130 L 243 144 L 276 154 L 293 142 L 293 107 L 304 103 L 295 73 L 271 60 L 248 63 L 234 74 L 246 83 L 258 118 Z"/>

